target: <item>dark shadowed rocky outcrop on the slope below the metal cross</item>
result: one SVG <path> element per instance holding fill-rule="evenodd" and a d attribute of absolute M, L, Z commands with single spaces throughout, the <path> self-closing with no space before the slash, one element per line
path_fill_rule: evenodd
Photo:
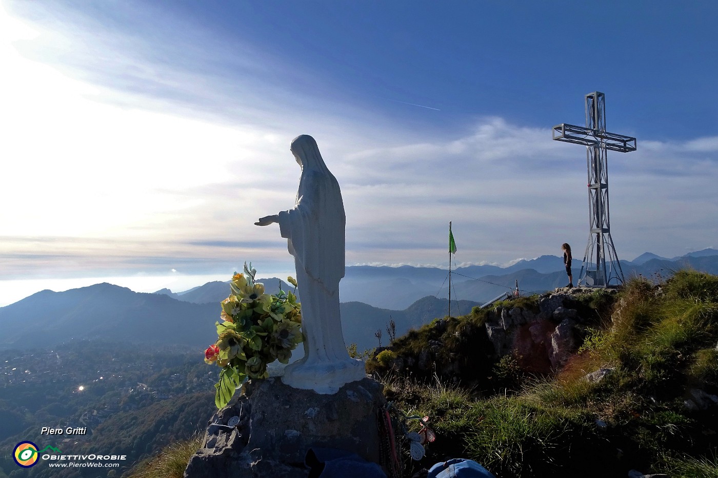
<path fill-rule="evenodd" d="M 597 311 L 587 300 L 597 290 L 617 293 L 617 289 L 556 289 L 536 301 L 506 301 L 462 319 L 437 320 L 421 330 L 421 339 L 414 332 L 414 337 L 410 333 L 397 339 L 398 345 L 376 349 L 375 360 L 384 350 L 396 354 L 391 362 L 384 357 L 376 370 L 437 375 L 467 387 L 484 386 L 485 378 L 495 375 L 495 364 L 506 356 L 513 357 L 523 372 L 554 372 L 567 365 L 583 343 L 586 329 L 599 327 Z M 612 299 L 597 303 L 607 306 Z"/>

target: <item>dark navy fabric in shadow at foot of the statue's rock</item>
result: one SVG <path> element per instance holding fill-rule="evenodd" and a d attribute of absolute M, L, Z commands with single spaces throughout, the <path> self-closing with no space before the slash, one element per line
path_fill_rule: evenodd
<path fill-rule="evenodd" d="M 304 464 L 309 478 L 387 478 L 383 469 L 355 453 L 333 448 L 311 448 Z"/>

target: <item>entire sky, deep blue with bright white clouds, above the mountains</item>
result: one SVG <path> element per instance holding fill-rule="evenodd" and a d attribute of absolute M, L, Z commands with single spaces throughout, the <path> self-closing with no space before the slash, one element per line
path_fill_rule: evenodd
<path fill-rule="evenodd" d="M 0 306 L 108 280 L 291 271 L 289 142 L 342 187 L 348 264 L 505 264 L 587 241 L 584 124 L 618 256 L 718 247 L 712 2 L 3 1 Z M 8 72 L 9 71 L 9 72 Z M 579 254 L 576 254 L 577 256 Z"/>

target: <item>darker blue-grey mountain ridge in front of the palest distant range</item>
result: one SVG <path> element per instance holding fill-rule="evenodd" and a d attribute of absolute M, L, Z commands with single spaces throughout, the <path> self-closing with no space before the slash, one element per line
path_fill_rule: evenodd
<path fill-rule="evenodd" d="M 279 284 L 279 283 L 278 283 Z M 223 293 L 223 298 L 229 291 Z M 54 292 L 40 291 L 0 308 L 0 348 L 22 349 L 32 343 L 52 347 L 78 339 L 107 339 L 154 347 L 182 345 L 203 350 L 217 339 L 214 323 L 220 319 L 219 301 L 194 304 L 166 294 L 134 292 L 110 283 Z M 374 347 L 373 333 L 390 319 L 397 333 L 444 317 L 446 299 L 426 296 L 413 308 L 381 309 L 369 304 L 342 303 L 345 342 L 359 350 Z M 464 313 L 473 301 L 460 301 Z"/>

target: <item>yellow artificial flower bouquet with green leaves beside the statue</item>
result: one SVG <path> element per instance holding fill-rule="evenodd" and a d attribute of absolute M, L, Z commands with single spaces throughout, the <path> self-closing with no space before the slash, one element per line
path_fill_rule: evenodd
<path fill-rule="evenodd" d="M 219 338 L 205 350 L 205 362 L 222 367 L 215 384 L 215 405 L 223 408 L 246 378 L 267 378 L 267 365 L 274 360 L 289 363 L 302 342 L 302 306 L 297 302 L 297 281 L 286 280 L 294 291 L 264 293 L 264 284 L 256 282 L 256 269 L 244 264 L 244 273 L 235 273 L 231 294 L 224 299 L 215 322 Z"/>

